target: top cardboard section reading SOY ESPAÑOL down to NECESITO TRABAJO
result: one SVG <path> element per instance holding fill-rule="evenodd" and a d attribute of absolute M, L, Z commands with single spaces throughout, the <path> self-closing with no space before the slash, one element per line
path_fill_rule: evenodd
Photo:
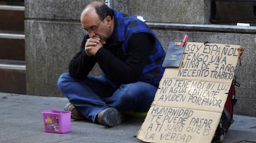
<path fill-rule="evenodd" d="M 179 68 L 167 68 L 163 78 L 231 83 L 240 46 L 187 43 Z M 220 82 L 221 81 L 221 82 Z"/>

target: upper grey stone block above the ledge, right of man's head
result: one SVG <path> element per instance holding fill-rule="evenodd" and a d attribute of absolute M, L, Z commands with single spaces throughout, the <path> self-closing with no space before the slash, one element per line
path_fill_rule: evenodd
<path fill-rule="evenodd" d="M 141 15 L 147 22 L 207 24 L 210 18 L 208 0 L 113 0 L 113 6 L 129 15 Z"/>

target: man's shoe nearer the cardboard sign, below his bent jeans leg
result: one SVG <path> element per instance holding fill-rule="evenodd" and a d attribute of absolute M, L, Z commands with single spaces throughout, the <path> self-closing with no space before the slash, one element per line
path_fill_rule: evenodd
<path fill-rule="evenodd" d="M 97 115 L 97 121 L 104 126 L 117 126 L 124 121 L 124 116 L 116 110 L 116 108 L 105 108 Z"/>

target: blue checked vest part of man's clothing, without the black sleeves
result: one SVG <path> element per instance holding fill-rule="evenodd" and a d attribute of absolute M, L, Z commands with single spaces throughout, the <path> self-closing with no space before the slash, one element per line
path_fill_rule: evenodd
<path fill-rule="evenodd" d="M 148 62 L 143 68 L 142 75 L 140 76 L 140 81 L 151 83 L 153 85 L 158 85 L 161 77 L 163 76 L 164 67 L 162 63 L 164 60 L 165 52 L 160 44 L 160 41 L 156 38 L 155 33 L 153 33 L 148 26 L 141 20 L 129 17 L 117 10 L 114 10 L 114 15 L 117 22 L 117 27 L 115 28 L 114 38 L 118 41 L 124 41 L 122 44 L 122 49 L 126 51 L 128 40 L 130 36 L 136 33 L 149 33 L 155 38 L 155 51 L 150 53 L 148 57 Z"/>

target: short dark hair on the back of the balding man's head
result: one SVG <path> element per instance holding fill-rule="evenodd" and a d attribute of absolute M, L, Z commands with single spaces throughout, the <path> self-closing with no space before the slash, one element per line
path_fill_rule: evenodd
<path fill-rule="evenodd" d="M 110 9 L 106 4 L 102 4 L 100 6 L 95 6 L 96 13 L 98 14 L 100 20 L 103 20 L 108 15 L 111 16 L 111 18 L 114 17 L 114 11 Z"/>

